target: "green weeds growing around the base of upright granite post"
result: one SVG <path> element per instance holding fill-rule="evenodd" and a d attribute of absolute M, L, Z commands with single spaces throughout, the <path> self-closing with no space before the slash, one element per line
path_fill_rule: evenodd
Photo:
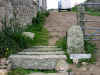
<path fill-rule="evenodd" d="M 65 51 L 65 55 L 67 56 L 67 62 L 69 64 L 72 64 L 73 62 L 70 59 L 69 54 L 67 52 L 67 43 L 66 42 L 67 42 L 66 38 L 63 37 L 56 42 L 56 45 L 58 47 L 62 48 Z M 87 63 L 90 63 L 90 64 L 95 63 L 96 62 L 96 56 L 95 56 L 96 50 L 97 50 L 96 45 L 93 44 L 93 42 L 85 41 L 85 52 L 87 54 L 91 54 L 92 57 L 90 59 L 80 59 L 79 64 L 82 63 L 82 62 L 87 62 Z"/>

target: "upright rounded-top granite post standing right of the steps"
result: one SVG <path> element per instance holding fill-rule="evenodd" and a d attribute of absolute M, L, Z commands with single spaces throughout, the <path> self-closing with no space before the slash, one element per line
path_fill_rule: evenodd
<path fill-rule="evenodd" d="M 67 33 L 67 51 L 69 54 L 83 54 L 84 36 L 79 25 L 73 25 Z"/>

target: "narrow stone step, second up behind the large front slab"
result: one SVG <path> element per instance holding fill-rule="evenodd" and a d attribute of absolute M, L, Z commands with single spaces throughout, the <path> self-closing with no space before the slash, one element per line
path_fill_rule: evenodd
<path fill-rule="evenodd" d="M 43 51 L 62 51 L 62 48 L 47 48 L 47 47 L 42 47 L 42 48 L 38 48 L 38 47 L 34 47 L 34 48 L 28 48 L 28 49 L 24 49 L 23 52 L 43 52 Z"/>

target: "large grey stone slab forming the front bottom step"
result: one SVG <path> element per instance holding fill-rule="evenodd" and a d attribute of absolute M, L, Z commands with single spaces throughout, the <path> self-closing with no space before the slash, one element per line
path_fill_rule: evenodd
<path fill-rule="evenodd" d="M 22 67 L 25 69 L 55 69 L 59 60 L 66 60 L 65 55 L 11 55 L 9 60 L 13 68 Z"/>

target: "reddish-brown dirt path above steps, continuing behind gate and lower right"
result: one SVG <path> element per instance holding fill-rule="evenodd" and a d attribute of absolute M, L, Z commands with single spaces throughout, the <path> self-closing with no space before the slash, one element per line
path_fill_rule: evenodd
<path fill-rule="evenodd" d="M 89 20 L 100 20 L 100 16 L 86 15 Z M 49 45 L 55 45 L 56 41 L 65 36 L 68 28 L 71 25 L 76 24 L 76 15 L 73 12 L 50 12 L 50 16 L 47 18 L 45 27 L 50 32 Z M 86 23 L 86 26 L 100 27 L 98 23 Z M 87 31 L 90 32 L 91 31 Z M 100 37 L 99 37 L 100 39 Z M 75 65 L 70 65 L 75 75 L 100 75 L 100 41 L 95 41 L 97 44 L 97 62 L 96 64 L 87 65 L 85 67 L 76 68 Z"/>

